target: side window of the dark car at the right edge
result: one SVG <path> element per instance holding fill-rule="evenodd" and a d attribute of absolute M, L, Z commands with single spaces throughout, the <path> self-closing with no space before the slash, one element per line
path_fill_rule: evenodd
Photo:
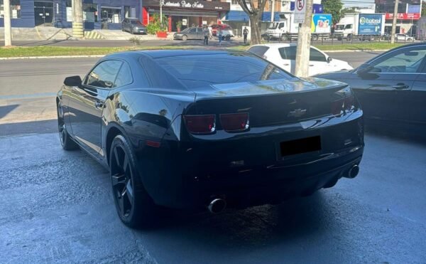
<path fill-rule="evenodd" d="M 372 65 L 379 73 L 417 73 L 426 56 L 426 47 L 404 48 L 378 58 Z"/>

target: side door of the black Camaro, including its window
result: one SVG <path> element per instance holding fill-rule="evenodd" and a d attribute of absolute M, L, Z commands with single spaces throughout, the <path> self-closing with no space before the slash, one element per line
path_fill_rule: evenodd
<path fill-rule="evenodd" d="M 114 88 L 122 63 L 121 60 L 98 63 L 84 78 L 82 85 L 74 88 L 74 96 L 68 102 L 70 125 L 75 139 L 98 158 L 102 151 L 102 110 L 108 94 Z"/>

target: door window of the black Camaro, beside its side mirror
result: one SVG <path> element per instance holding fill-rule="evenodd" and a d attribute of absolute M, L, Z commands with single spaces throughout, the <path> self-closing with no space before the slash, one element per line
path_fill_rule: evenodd
<path fill-rule="evenodd" d="M 120 67 L 121 61 L 119 60 L 103 61 L 87 75 L 84 84 L 98 88 L 112 88 Z"/>

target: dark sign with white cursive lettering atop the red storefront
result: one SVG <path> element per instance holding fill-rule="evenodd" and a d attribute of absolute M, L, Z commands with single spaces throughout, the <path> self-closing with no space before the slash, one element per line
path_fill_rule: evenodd
<path fill-rule="evenodd" d="M 226 2 L 197 1 L 197 0 L 160 0 L 163 8 L 177 9 L 204 9 L 204 10 L 229 10 L 230 4 Z M 143 1 L 143 6 L 157 7 L 158 1 Z"/>

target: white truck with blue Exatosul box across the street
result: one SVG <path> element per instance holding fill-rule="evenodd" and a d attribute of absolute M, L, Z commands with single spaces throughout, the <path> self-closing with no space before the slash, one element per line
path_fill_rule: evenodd
<path fill-rule="evenodd" d="M 334 37 L 339 41 L 373 41 L 385 33 L 385 14 L 345 14 L 334 28 Z"/>

